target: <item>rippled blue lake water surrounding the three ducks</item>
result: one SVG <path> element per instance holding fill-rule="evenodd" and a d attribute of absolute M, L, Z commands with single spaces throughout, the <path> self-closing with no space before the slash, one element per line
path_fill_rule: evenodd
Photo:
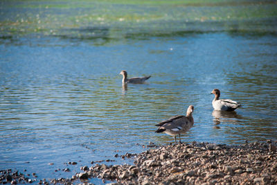
<path fill-rule="evenodd" d="M 277 139 L 272 26 L 251 32 L 225 30 L 221 22 L 213 28 L 223 30 L 206 30 L 208 25 L 158 34 L 107 29 L 110 25 L 61 28 L 57 35 L 2 32 L 0 170 L 26 169 L 50 179 L 71 177 L 91 161 L 132 162 L 114 155 L 141 152 L 149 142 L 172 143 L 172 136 L 155 133 L 154 125 L 186 114 L 188 105 L 195 106 L 195 125 L 181 137 L 184 142 Z M 99 35 L 86 35 L 92 32 Z M 123 69 L 129 77 L 152 77 L 125 89 L 118 74 Z M 242 108 L 214 112 L 210 93 L 215 88 Z"/>

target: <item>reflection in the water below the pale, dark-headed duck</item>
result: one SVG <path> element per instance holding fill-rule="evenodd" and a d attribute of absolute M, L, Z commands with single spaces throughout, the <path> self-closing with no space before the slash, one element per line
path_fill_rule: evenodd
<path fill-rule="evenodd" d="M 220 123 L 225 122 L 225 123 L 237 123 L 238 119 L 242 118 L 237 112 L 232 111 L 232 112 L 226 112 L 226 111 L 221 111 L 221 110 L 214 110 L 212 112 L 213 115 L 213 123 L 215 123 L 214 128 L 215 129 L 220 129 Z"/>

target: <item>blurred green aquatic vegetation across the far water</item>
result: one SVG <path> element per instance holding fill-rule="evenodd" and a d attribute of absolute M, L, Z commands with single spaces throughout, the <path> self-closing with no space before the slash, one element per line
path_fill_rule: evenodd
<path fill-rule="evenodd" d="M 277 4 L 271 1 L 1 1 L 0 35 L 108 37 L 175 34 L 183 31 L 276 33 Z M 89 30 L 89 31 L 88 31 Z"/>

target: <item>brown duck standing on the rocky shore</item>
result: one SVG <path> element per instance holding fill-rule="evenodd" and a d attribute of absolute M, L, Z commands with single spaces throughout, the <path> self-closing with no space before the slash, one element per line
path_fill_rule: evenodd
<path fill-rule="evenodd" d="M 179 135 L 179 143 L 181 143 L 181 136 L 180 134 L 185 134 L 193 127 L 193 105 L 188 107 L 186 112 L 186 116 L 172 116 L 171 118 L 167 119 L 166 121 L 161 121 L 156 126 L 159 128 L 155 131 L 156 133 L 164 132 L 166 134 L 174 136 L 175 145 L 177 144 L 176 135 Z"/>

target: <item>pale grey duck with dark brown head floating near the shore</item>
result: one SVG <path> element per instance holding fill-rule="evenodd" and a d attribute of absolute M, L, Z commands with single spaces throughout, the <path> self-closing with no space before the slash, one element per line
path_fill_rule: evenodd
<path fill-rule="evenodd" d="M 241 107 L 240 103 L 229 100 L 229 99 L 220 99 L 220 90 L 213 89 L 211 94 L 215 94 L 215 98 L 213 99 L 213 109 L 222 110 L 222 111 L 234 111 L 238 107 Z"/>

